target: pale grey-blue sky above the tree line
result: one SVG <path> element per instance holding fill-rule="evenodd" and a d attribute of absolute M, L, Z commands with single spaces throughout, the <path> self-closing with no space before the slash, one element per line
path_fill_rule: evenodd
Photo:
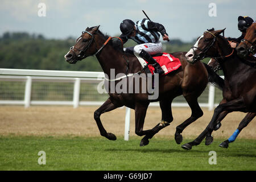
<path fill-rule="evenodd" d="M 46 7 L 46 16 L 42 6 Z M 216 14 L 212 15 L 216 5 Z M 146 18 L 163 24 L 171 39 L 191 42 L 209 28 L 226 28 L 225 36 L 238 37 L 238 16 L 256 20 L 255 0 L 1 0 L 0 35 L 6 31 L 42 34 L 49 39 L 77 38 L 86 27 L 100 25 L 104 34 L 121 34 L 123 19 L 134 22 Z"/>

